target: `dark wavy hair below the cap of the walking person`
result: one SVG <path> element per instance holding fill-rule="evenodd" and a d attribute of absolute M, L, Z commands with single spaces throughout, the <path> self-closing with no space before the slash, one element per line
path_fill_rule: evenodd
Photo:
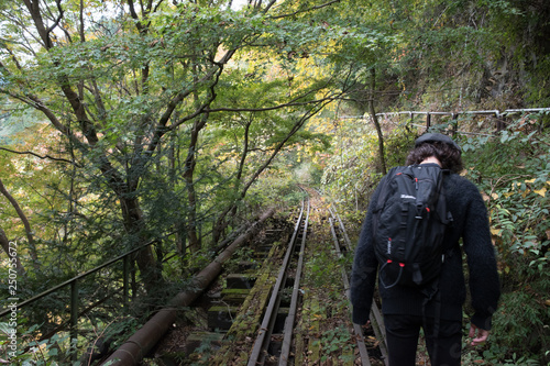
<path fill-rule="evenodd" d="M 430 156 L 437 157 L 443 169 L 461 173 L 464 168 L 461 152 L 454 146 L 437 141 L 416 146 L 407 156 L 406 164 L 420 164 Z"/>

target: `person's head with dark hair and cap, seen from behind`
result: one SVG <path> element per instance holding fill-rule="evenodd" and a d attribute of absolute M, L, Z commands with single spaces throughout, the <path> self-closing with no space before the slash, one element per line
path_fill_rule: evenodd
<path fill-rule="evenodd" d="M 460 173 L 463 169 L 462 149 L 451 137 L 440 133 L 426 133 L 415 141 L 415 148 L 407 156 L 407 165 L 420 164 L 435 156 L 443 169 Z"/>

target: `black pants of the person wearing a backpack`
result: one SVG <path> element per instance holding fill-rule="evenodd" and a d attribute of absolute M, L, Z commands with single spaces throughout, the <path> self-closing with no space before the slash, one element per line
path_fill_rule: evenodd
<path fill-rule="evenodd" d="M 441 319 L 437 340 L 433 319 L 427 318 L 426 324 L 422 323 L 422 317 L 384 315 L 389 366 L 415 366 L 420 328 L 424 328 L 432 366 L 460 365 L 462 322 Z"/>

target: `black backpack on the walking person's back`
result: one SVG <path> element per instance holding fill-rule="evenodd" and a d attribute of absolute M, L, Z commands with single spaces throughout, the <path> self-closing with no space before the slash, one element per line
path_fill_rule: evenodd
<path fill-rule="evenodd" d="M 422 286 L 439 276 L 452 222 L 437 164 L 394 167 L 373 211 L 374 248 L 385 288 Z"/>

